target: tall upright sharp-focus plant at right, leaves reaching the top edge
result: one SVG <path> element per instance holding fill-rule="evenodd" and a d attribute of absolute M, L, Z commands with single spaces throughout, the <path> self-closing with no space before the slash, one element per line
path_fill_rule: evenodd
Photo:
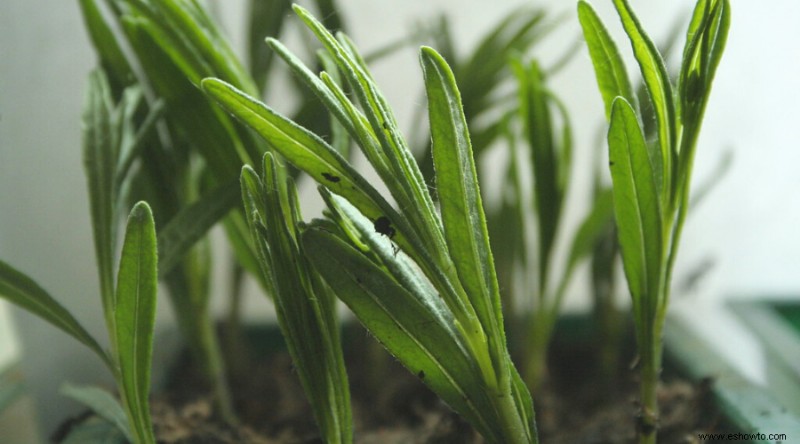
<path fill-rule="evenodd" d="M 672 269 L 689 208 L 692 165 L 711 84 L 730 27 L 727 0 L 698 0 L 686 34 L 677 85 L 630 5 L 614 0 L 641 69 L 657 123 L 648 144 L 625 65 L 588 3 L 578 15 L 605 103 L 614 213 L 625 276 L 633 300 L 641 391 L 639 439 L 654 443 L 662 329 Z M 677 87 L 677 93 L 673 88 Z"/>

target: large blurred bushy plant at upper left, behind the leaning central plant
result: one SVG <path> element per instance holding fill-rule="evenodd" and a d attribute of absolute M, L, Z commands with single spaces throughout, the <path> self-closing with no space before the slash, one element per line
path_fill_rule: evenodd
<path fill-rule="evenodd" d="M 326 17 L 337 16 L 332 1 L 317 3 Z M 125 87 L 137 86 L 156 97 L 153 103 L 141 101 L 134 110 L 137 118 L 160 106 L 160 131 L 137 147 L 138 168 L 130 172 L 127 194 L 129 199 L 147 200 L 156 210 L 159 274 L 169 289 L 178 327 L 213 388 L 217 411 L 233 419 L 227 370 L 209 312 L 212 255 L 206 234 L 222 221 L 236 268 L 250 271 L 262 287 L 269 287 L 241 210 L 238 180 L 241 166 L 260 160 L 266 146 L 237 128 L 198 86 L 203 77 L 217 76 L 250 94 L 263 92 L 271 53 L 251 51 L 246 70 L 195 0 L 80 0 L 80 6 L 100 65 L 108 72 L 111 96 L 116 100 Z M 281 10 L 287 7 L 287 2 L 253 2 L 250 35 L 263 39 L 280 32 L 285 15 Z M 340 26 L 333 19 L 330 24 Z M 304 108 L 299 118 L 319 114 L 313 107 Z M 237 325 L 236 283 L 232 287 L 229 325 Z M 229 338 L 237 336 L 227 333 Z"/>

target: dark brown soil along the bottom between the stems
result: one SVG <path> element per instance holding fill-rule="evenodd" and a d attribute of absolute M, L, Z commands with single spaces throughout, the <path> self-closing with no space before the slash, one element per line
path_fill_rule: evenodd
<path fill-rule="evenodd" d="M 484 442 L 420 380 L 366 333 L 347 352 L 355 437 L 359 444 Z M 352 344 L 354 338 L 348 338 Z M 534 398 L 540 442 L 632 443 L 636 437 L 635 371 L 620 364 L 615 381 L 603 383 L 591 347 L 551 353 L 550 374 Z M 241 355 L 240 355 L 241 356 Z M 370 358 L 370 356 L 373 356 Z M 375 358 L 374 356 L 377 356 Z M 587 357 L 589 364 L 587 364 Z M 322 443 L 291 360 L 285 352 L 239 362 L 246 372 L 231 381 L 240 425 L 217 418 L 199 376 L 181 358 L 173 383 L 152 402 L 160 444 Z M 711 406 L 711 380 L 691 383 L 665 375 L 660 387 L 659 443 L 699 442 L 698 433 L 720 431 Z"/>

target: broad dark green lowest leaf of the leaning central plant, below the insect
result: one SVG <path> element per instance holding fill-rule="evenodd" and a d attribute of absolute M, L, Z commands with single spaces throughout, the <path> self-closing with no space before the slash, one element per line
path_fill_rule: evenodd
<path fill-rule="evenodd" d="M 480 372 L 442 300 L 405 288 L 334 233 L 312 226 L 301 239 L 314 268 L 383 346 L 487 439 L 498 442 L 499 424 L 481 391 Z M 385 253 L 391 256 L 391 247 Z"/>

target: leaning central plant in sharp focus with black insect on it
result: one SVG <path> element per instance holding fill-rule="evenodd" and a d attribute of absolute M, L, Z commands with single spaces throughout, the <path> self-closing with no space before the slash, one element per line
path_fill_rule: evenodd
<path fill-rule="evenodd" d="M 397 203 L 389 204 L 320 137 L 218 79 L 204 91 L 324 186 L 331 221 L 304 229 L 302 250 L 358 319 L 490 442 L 537 442 L 533 403 L 506 346 L 500 296 L 470 138 L 453 73 L 421 51 L 441 215 L 391 109 L 343 34 L 295 11 L 335 61 L 360 107 L 330 75 L 288 62 L 347 130 Z"/>

